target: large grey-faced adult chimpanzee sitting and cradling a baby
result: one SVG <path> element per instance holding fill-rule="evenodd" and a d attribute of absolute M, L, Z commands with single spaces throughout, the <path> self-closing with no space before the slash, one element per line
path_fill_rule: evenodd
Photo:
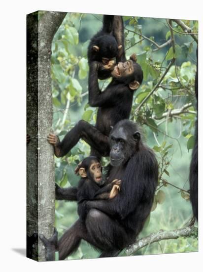
<path fill-rule="evenodd" d="M 138 126 L 129 120 L 117 123 L 109 140 L 111 166 L 107 182 L 121 179 L 121 190 L 109 200 L 87 201 L 85 222 L 77 220 L 58 242 L 60 260 L 76 250 L 81 239 L 101 250 L 101 257 L 117 256 L 135 241 L 150 213 L 158 181 L 153 151 L 142 142 Z M 46 239 L 44 245 L 46 252 L 53 252 L 52 238 Z"/>

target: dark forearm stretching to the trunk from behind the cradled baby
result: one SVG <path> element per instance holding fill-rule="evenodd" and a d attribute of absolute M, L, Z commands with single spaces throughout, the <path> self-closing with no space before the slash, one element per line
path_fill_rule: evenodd
<path fill-rule="evenodd" d="M 61 188 L 57 183 L 56 186 L 56 199 L 77 201 L 77 187 Z"/>

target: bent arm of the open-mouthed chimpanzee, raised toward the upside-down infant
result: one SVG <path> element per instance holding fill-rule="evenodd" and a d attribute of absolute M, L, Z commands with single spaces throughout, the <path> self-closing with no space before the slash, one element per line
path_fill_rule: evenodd
<path fill-rule="evenodd" d="M 105 91 L 101 91 L 98 84 L 99 63 L 93 61 L 90 63 L 89 71 L 89 104 L 92 107 L 111 107 L 117 104 L 117 99 L 122 95 L 125 86 L 118 84 L 116 87 L 109 85 Z M 119 96 L 120 94 L 120 96 Z"/>

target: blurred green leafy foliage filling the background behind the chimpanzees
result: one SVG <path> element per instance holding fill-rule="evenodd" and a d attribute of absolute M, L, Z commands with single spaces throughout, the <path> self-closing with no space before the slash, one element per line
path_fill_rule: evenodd
<path fill-rule="evenodd" d="M 70 13 L 54 37 L 51 58 L 53 130 L 60 138 L 80 119 L 95 124 L 97 109 L 87 103 L 87 46 L 102 26 L 101 19 L 101 15 Z M 194 33 L 198 32 L 197 21 L 183 22 Z M 147 144 L 156 152 L 159 161 L 159 184 L 152 214 L 140 234 L 143 236 L 160 228 L 181 227 L 192 216 L 188 170 L 196 118 L 196 43 L 190 35 L 184 35 L 176 23 L 172 23 L 173 30 L 170 30 L 165 19 L 124 16 L 124 23 L 126 55 L 129 57 L 135 52 L 144 73 L 144 82 L 134 95 L 131 119 L 141 125 Z M 109 82 L 110 79 L 101 81 L 101 89 Z M 89 151 L 90 147 L 81 140 L 67 156 L 56 158 L 56 181 L 60 186 L 77 184 L 74 168 Z M 108 159 L 104 158 L 102 164 L 107 163 Z M 60 235 L 76 219 L 75 203 L 56 202 L 56 227 Z M 137 254 L 197 249 L 197 240 L 179 238 L 163 241 L 161 245 L 155 243 Z M 79 250 L 68 259 L 97 256 L 96 251 L 82 242 Z"/>

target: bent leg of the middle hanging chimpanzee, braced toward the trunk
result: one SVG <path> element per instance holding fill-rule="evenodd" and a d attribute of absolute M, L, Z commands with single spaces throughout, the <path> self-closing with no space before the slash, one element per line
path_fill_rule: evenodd
<path fill-rule="evenodd" d="M 108 136 L 103 135 L 98 129 L 84 120 L 80 120 L 74 128 L 68 132 L 62 142 L 57 144 L 58 156 L 62 157 L 66 155 L 80 138 L 84 139 L 101 155 L 107 156 L 109 154 Z"/>

